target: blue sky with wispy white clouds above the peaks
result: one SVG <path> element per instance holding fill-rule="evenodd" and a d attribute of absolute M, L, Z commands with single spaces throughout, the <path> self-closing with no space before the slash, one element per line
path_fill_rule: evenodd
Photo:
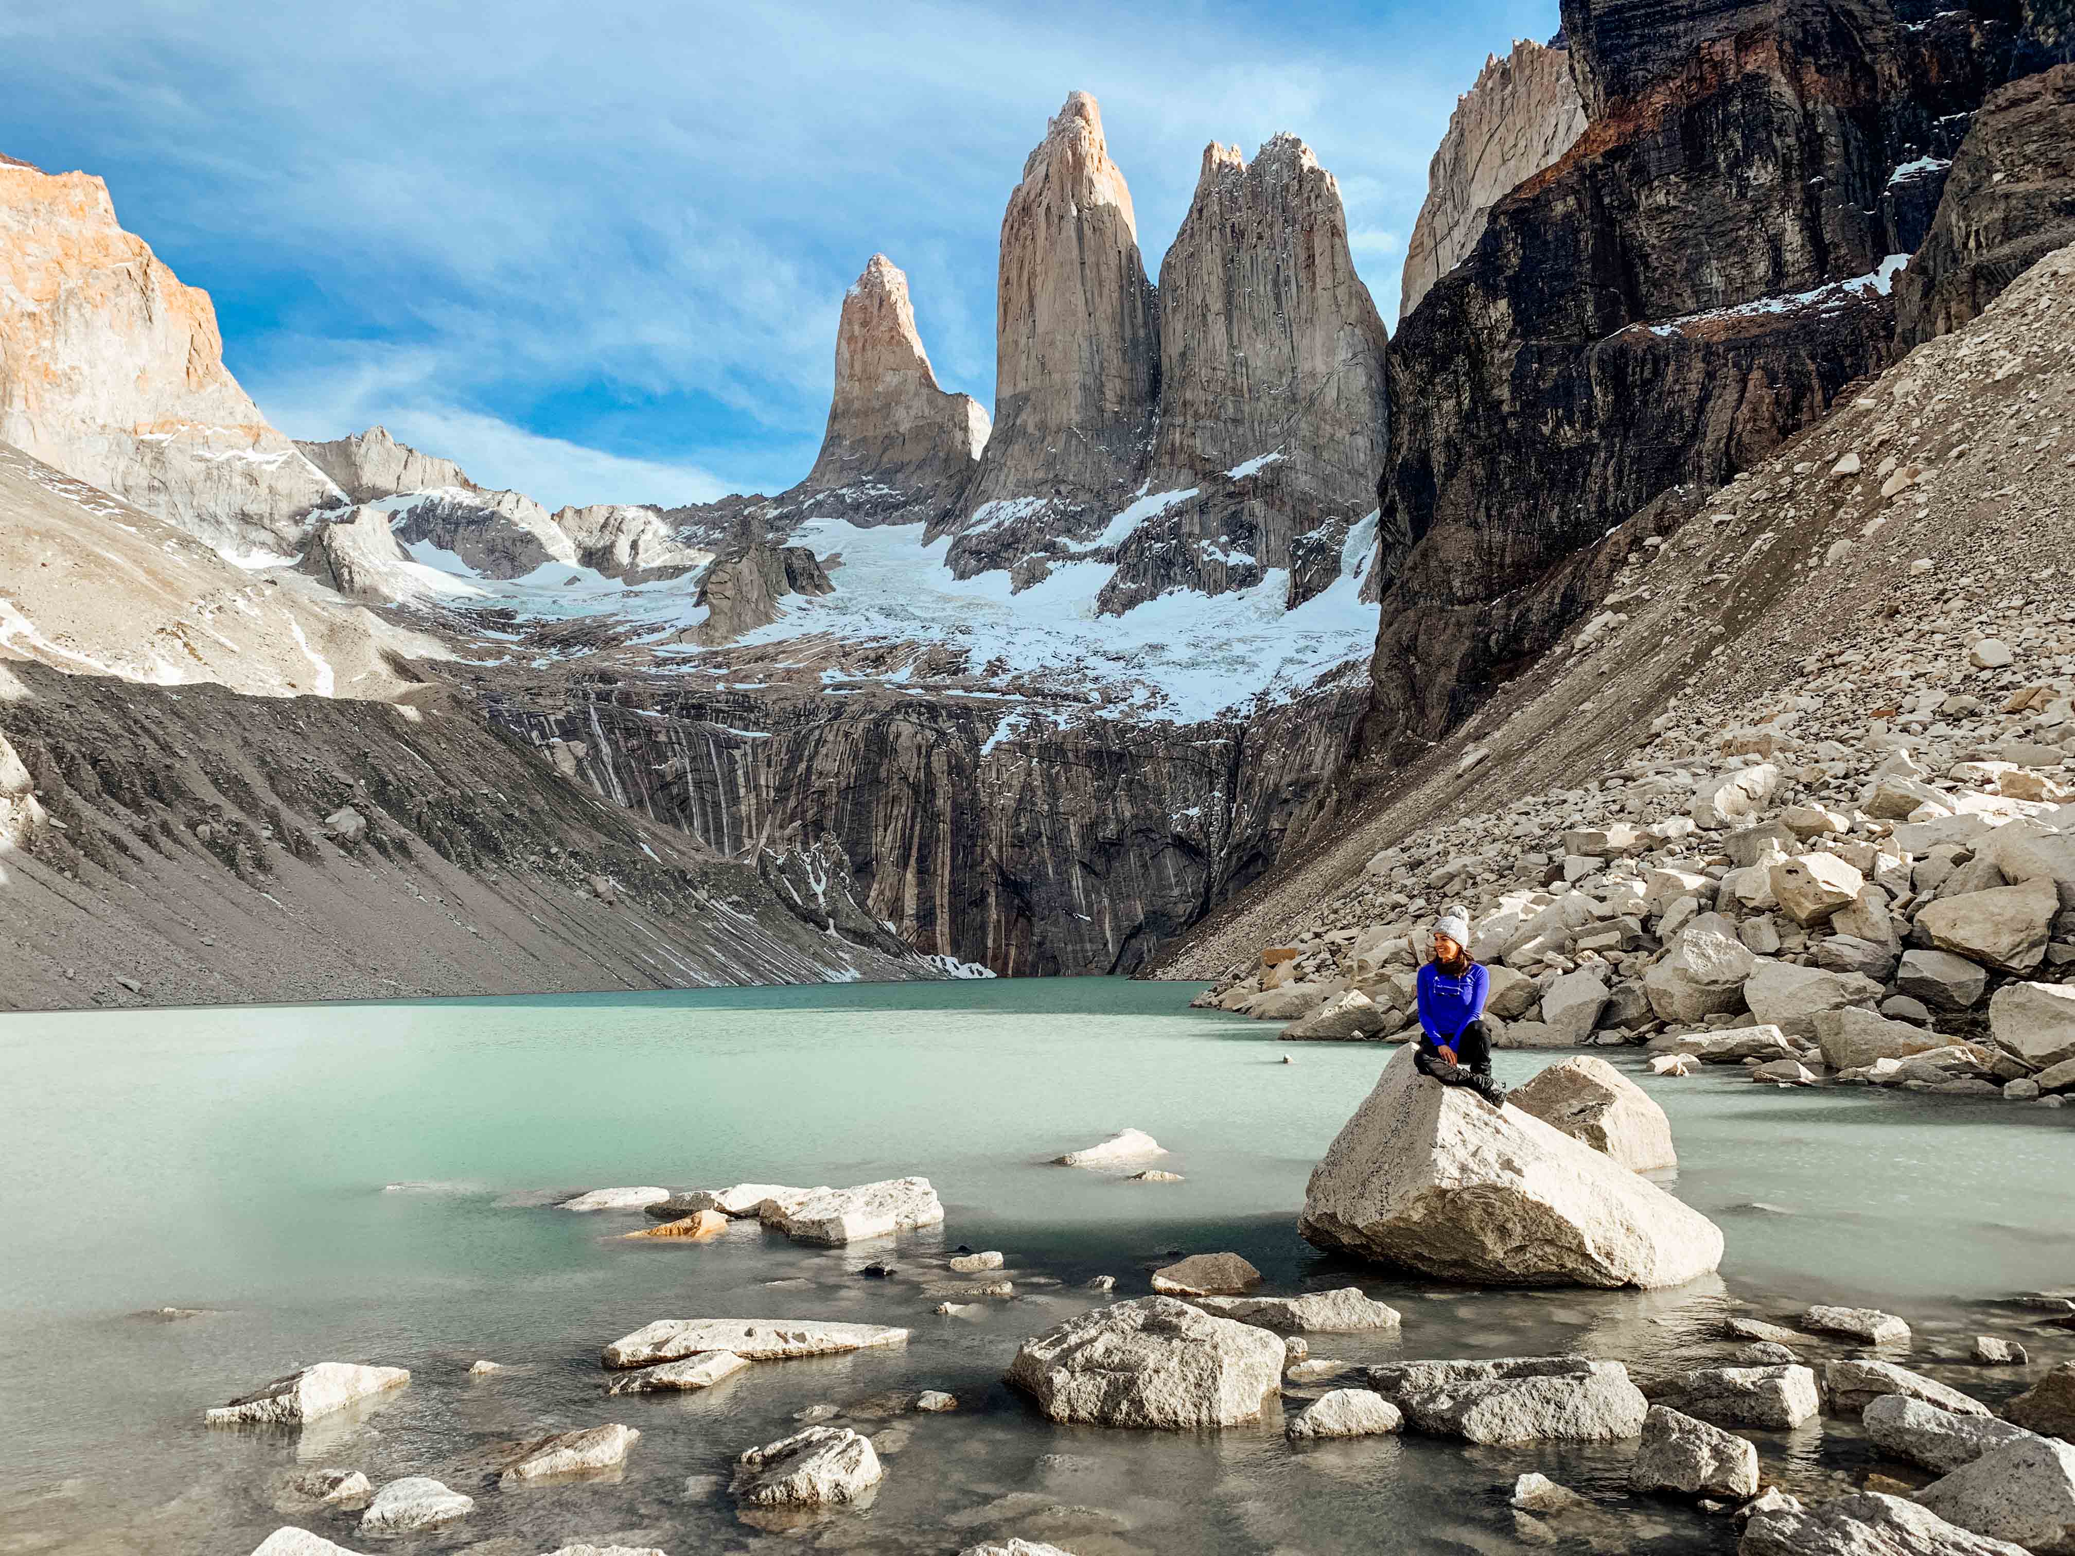
<path fill-rule="evenodd" d="M 992 402 L 1002 205 L 1102 102 L 1147 272 L 1206 141 L 1289 129 L 1396 319 L 1426 168 L 1556 0 L 627 4 L 8 0 L 0 151 L 104 176 L 205 286 L 297 438 L 382 421 L 550 504 L 778 490 L 813 459 L 842 290 L 907 270 Z"/>

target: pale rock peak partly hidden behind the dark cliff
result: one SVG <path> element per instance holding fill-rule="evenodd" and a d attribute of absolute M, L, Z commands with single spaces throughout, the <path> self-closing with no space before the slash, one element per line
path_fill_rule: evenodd
<path fill-rule="evenodd" d="M 1405 245 L 1399 317 L 1477 247 L 1492 205 L 1556 162 L 1583 131 L 1585 102 L 1569 52 L 1521 39 L 1504 58 L 1484 62 L 1428 170 L 1428 197 Z"/>

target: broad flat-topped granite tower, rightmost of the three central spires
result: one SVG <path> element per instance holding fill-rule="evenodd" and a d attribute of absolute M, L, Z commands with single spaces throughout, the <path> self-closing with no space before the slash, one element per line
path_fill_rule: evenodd
<path fill-rule="evenodd" d="M 1102 552 L 1116 573 L 1100 608 L 1222 593 L 1272 568 L 1291 575 L 1286 604 L 1330 583 L 1374 506 L 1386 353 L 1340 189 L 1311 147 L 1276 135 L 1253 162 L 1206 147 L 1160 266 L 1158 436 L 1150 496 L 1133 504 L 1152 512 Z"/>

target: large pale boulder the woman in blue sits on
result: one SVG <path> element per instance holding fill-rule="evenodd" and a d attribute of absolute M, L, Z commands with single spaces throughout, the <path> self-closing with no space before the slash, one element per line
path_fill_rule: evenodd
<path fill-rule="evenodd" d="M 1722 1261 L 1706 1216 L 1519 1108 L 1430 1081 L 1409 1046 L 1313 1168 L 1297 1230 L 1494 1286 L 1677 1286 Z"/>

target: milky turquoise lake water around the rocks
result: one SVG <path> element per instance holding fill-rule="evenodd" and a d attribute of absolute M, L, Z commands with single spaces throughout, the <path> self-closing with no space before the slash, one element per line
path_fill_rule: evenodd
<path fill-rule="evenodd" d="M 1648 1386 L 1722 1359 L 1728 1305 L 1787 1317 L 1818 1299 L 1901 1311 L 1917 1326 L 1909 1365 L 1984 1398 L 2075 1351 L 2075 1334 L 1998 1301 L 2075 1280 L 2063 1114 L 1639 1073 L 1679 1139 L 1668 1187 L 1728 1234 L 1722 1278 L 1652 1295 L 1448 1288 L 1349 1268 L 1295 1234 L 1305 1174 L 1392 1050 L 1284 1050 L 1268 1025 L 1187 1010 L 1191 992 L 1048 979 L 6 1017 L 0 1552 L 243 1554 L 288 1521 L 353 1550 L 483 1556 L 577 1539 L 672 1556 L 957 1552 L 1013 1533 L 1079 1556 L 1733 1546 L 1720 1521 L 1623 1496 L 1619 1448 L 1293 1450 L 1280 1419 L 1216 1436 L 1056 1427 L 1000 1386 L 1023 1336 L 1100 1301 L 1081 1290 L 1089 1276 L 1141 1295 L 1174 1249 L 1245 1253 L 1264 1290 L 1361 1284 L 1401 1307 L 1403 1338 L 1311 1336 L 1313 1355 L 1357 1363 L 1583 1349 Z M 1546 1062 L 1502 1054 L 1500 1073 Z M 1127 1124 L 1187 1180 L 1046 1166 Z M 616 1243 L 649 1222 L 525 1203 L 907 1172 L 938 1185 L 946 1224 L 847 1251 L 753 1224 L 706 1245 Z M 936 1317 L 940 1288 L 961 1284 L 942 1268 L 957 1245 L 1004 1249 L 1019 1297 Z M 892 1280 L 857 1274 L 888 1251 Z M 212 1311 L 129 1317 L 162 1305 Z M 706 1394 L 604 1396 L 604 1342 L 695 1315 L 884 1322 L 913 1338 L 759 1363 Z M 2038 1365 L 1957 1361 L 1975 1332 L 2023 1338 Z M 471 1380 L 477 1357 L 506 1371 Z M 320 1359 L 407 1365 L 413 1384 L 299 1436 L 201 1425 L 208 1405 Z M 874 1394 L 919 1388 L 961 1409 L 876 1413 Z M 724 1490 L 735 1454 L 815 1402 L 880 1434 L 876 1502 L 782 1535 L 741 1523 Z M 643 1432 L 618 1481 L 486 1485 L 492 1444 L 602 1421 Z M 1865 1469 L 1834 1419 L 1751 1436 L 1789 1485 Z M 274 1504 L 299 1461 L 376 1483 L 438 1475 L 477 1508 L 374 1539 L 351 1515 Z M 1596 1510 L 1523 1521 L 1504 1488 L 1527 1469 Z"/>

